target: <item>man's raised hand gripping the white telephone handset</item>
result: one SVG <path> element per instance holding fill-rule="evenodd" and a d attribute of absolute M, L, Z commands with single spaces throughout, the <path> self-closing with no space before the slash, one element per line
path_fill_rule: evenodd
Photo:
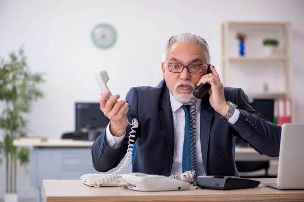
<path fill-rule="evenodd" d="M 125 112 L 127 111 L 129 104 L 125 100 L 120 100 L 120 95 L 114 95 L 110 99 L 106 100 L 109 96 L 110 91 L 107 90 L 100 94 L 100 110 L 104 116 L 111 120 L 110 132 L 113 136 L 123 136 L 128 126 L 128 119 Z"/>

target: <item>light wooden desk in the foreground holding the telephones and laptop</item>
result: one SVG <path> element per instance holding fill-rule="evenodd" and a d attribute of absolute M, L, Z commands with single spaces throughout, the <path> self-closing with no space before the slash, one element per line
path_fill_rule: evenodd
<path fill-rule="evenodd" d="M 275 183 L 276 179 L 257 179 Z M 278 190 L 260 184 L 239 190 L 195 189 L 141 192 L 120 187 L 89 187 L 81 180 L 43 180 L 47 201 L 304 201 L 304 190 Z"/>

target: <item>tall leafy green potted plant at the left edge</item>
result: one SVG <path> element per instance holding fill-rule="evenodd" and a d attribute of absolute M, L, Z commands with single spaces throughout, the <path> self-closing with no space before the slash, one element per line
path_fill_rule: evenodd
<path fill-rule="evenodd" d="M 29 69 L 23 47 L 18 54 L 11 53 L 9 61 L 0 57 L 0 160 L 6 165 L 6 190 L 4 201 L 17 201 L 17 162 L 21 165 L 29 162 L 27 148 L 13 145 L 13 140 L 24 137 L 27 133 L 28 120 L 33 102 L 44 97 L 39 89 L 44 82 L 43 74 L 32 73 Z"/>

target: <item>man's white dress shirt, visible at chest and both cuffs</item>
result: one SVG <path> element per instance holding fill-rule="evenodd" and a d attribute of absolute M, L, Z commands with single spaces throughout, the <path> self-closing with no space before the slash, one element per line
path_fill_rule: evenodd
<path fill-rule="evenodd" d="M 174 156 L 173 156 L 173 164 L 171 169 L 171 175 L 181 175 L 182 174 L 182 150 L 183 150 L 183 139 L 184 139 L 184 126 L 185 126 L 185 113 L 181 106 L 183 105 L 178 100 L 176 100 L 172 94 L 170 94 L 170 103 L 173 113 L 173 125 L 174 125 Z M 201 99 L 197 99 L 196 103 L 196 151 L 197 151 L 197 172 L 200 176 L 205 175 L 205 170 L 203 166 L 203 158 L 202 158 L 202 150 L 201 150 L 201 138 L 200 138 L 200 114 L 201 114 Z M 240 115 L 240 111 L 238 109 L 235 110 L 233 116 L 228 120 L 230 124 L 234 124 Z M 109 123 L 110 124 L 110 123 Z M 125 134 L 121 137 L 113 136 L 110 133 L 108 127 L 106 128 L 106 141 L 107 145 L 110 148 L 118 148 Z"/>

